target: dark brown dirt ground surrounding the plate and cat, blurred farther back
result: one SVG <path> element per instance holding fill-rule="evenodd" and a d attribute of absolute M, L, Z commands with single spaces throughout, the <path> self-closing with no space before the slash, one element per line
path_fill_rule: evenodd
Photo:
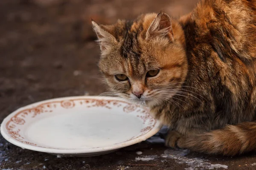
<path fill-rule="evenodd" d="M 160 10 L 178 17 L 191 11 L 197 1 L 0 0 L 0 122 L 33 102 L 106 91 L 97 68 L 99 46 L 94 42 L 90 18 L 113 23 L 117 18 L 131 19 Z M 0 136 L 0 169 L 256 169 L 255 153 L 227 158 L 167 149 L 161 139 L 165 132 L 163 129 L 148 141 L 90 158 L 57 158 L 23 150 Z"/>

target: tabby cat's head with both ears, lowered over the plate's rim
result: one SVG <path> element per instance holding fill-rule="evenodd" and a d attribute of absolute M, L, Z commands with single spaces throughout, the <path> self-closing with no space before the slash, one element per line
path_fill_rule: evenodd
<path fill-rule="evenodd" d="M 114 93 L 134 102 L 159 104 L 187 74 L 181 26 L 165 14 L 143 14 L 114 25 L 92 21 L 101 48 L 99 69 Z"/>

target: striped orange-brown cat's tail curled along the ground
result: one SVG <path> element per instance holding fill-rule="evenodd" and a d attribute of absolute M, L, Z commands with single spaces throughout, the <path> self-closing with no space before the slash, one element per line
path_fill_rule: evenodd
<path fill-rule="evenodd" d="M 227 125 L 218 130 L 191 136 L 178 143 L 184 147 L 208 154 L 234 156 L 256 150 L 256 122 Z"/>

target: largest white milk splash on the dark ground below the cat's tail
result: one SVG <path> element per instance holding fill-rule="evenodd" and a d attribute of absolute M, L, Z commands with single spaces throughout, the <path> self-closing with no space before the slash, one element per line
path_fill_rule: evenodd
<path fill-rule="evenodd" d="M 222 164 L 211 164 L 209 160 L 202 158 L 188 158 L 185 157 L 189 153 L 188 150 L 173 150 L 167 149 L 164 154 L 161 155 L 162 158 L 175 159 L 178 164 L 187 164 L 189 167 L 185 170 L 197 170 L 197 169 L 209 169 L 214 168 L 224 168 L 227 169 L 227 165 Z"/>

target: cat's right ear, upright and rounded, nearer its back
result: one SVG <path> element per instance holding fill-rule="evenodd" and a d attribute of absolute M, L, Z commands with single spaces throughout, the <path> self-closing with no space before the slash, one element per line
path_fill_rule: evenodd
<path fill-rule="evenodd" d="M 167 37 L 173 41 L 172 21 L 168 14 L 160 12 L 152 21 L 146 33 L 146 39 Z"/>

